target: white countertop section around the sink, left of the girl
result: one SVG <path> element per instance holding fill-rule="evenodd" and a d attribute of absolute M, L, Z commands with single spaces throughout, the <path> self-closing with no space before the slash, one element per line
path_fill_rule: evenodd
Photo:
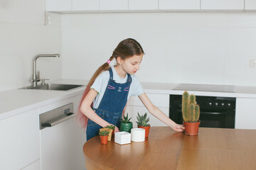
<path fill-rule="evenodd" d="M 86 80 L 57 80 L 50 81 L 51 84 L 87 84 Z M 82 94 L 85 86 L 70 91 L 48 91 L 33 89 L 14 89 L 0 92 L 0 120 L 18 115 L 26 111 L 48 105 L 50 103 L 64 100 Z"/>

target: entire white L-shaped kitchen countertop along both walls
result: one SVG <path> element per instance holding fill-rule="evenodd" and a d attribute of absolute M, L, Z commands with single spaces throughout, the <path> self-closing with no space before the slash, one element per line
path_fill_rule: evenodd
<path fill-rule="evenodd" d="M 61 79 L 51 81 L 50 83 L 58 84 L 81 84 L 86 85 L 87 80 Z M 183 94 L 183 91 L 173 90 L 178 84 L 164 83 L 142 83 L 142 86 L 148 94 Z M 0 92 L 0 120 L 8 118 L 34 108 L 45 106 L 55 101 L 80 95 L 85 90 L 82 88 L 71 91 L 46 91 L 31 89 L 14 89 Z M 210 91 L 188 91 L 189 94 L 196 96 L 223 96 L 223 97 L 240 97 L 240 98 L 256 98 L 256 87 L 254 86 L 235 86 L 235 93 L 210 92 Z"/>

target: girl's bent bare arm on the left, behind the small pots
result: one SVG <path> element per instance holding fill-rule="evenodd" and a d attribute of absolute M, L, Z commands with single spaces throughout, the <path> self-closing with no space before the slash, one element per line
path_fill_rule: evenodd
<path fill-rule="evenodd" d="M 80 111 L 87 116 L 87 118 L 90 118 L 93 122 L 97 123 L 98 125 L 102 126 L 103 128 L 107 125 L 111 125 L 106 120 L 100 118 L 95 111 L 91 108 L 91 103 L 97 96 L 97 91 L 95 89 L 90 89 L 88 94 L 85 96 L 84 100 L 82 101 Z M 119 132 L 118 128 L 114 130 L 114 132 Z"/>

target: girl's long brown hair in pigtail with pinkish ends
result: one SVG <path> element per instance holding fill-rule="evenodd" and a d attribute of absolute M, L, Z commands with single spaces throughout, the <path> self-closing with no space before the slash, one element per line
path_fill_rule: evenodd
<path fill-rule="evenodd" d="M 142 55 L 144 54 L 144 51 L 142 49 L 142 46 L 137 42 L 137 40 L 134 40 L 132 38 L 127 38 L 125 40 L 122 40 L 119 42 L 117 47 L 114 49 L 112 56 L 110 57 L 110 61 L 112 61 L 114 58 L 117 59 L 117 57 L 121 57 L 122 60 L 125 60 L 129 57 L 132 57 L 134 55 Z M 92 75 L 92 78 L 90 79 L 89 83 L 86 86 L 84 94 L 82 94 L 82 98 L 80 101 L 80 105 L 78 108 L 78 115 L 77 118 L 80 120 L 82 128 L 86 128 L 88 118 L 85 116 L 81 111 L 80 107 L 82 104 L 82 101 L 84 100 L 87 93 L 90 91 L 90 86 L 94 83 L 95 79 L 104 71 L 107 71 L 110 69 L 110 64 L 108 62 L 105 62 L 102 64 L 95 72 L 95 74 Z M 91 104 L 92 106 L 92 104 Z"/>

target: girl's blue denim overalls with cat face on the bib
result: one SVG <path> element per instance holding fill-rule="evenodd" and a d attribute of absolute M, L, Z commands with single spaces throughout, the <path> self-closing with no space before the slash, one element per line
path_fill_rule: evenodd
<path fill-rule="evenodd" d="M 111 67 L 109 71 L 110 80 L 108 81 L 105 94 L 100 101 L 99 107 L 93 108 L 93 110 L 100 116 L 100 118 L 106 120 L 108 123 L 116 125 L 117 128 L 119 128 L 120 120 L 122 119 L 122 111 L 127 103 L 127 96 L 129 86 L 132 83 L 132 77 L 128 74 L 127 82 L 124 84 L 118 84 L 113 80 Z M 100 125 L 89 120 L 86 130 L 87 140 L 98 135 L 100 128 L 102 128 Z"/>

